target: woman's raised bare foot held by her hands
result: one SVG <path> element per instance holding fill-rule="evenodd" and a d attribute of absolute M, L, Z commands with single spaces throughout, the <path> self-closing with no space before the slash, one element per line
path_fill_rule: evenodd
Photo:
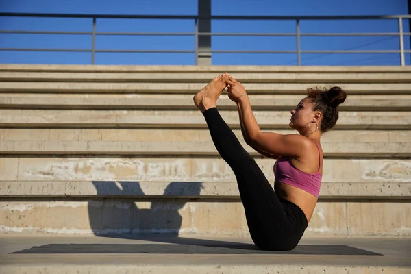
<path fill-rule="evenodd" d="M 207 86 L 194 95 L 192 99 L 201 113 L 204 113 L 209 108 L 216 107 L 217 99 L 219 99 L 221 92 L 225 89 L 227 77 L 228 73 L 215 77 Z"/>

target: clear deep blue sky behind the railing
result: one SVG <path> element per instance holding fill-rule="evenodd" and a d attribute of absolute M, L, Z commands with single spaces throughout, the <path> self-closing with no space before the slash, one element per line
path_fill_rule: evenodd
<path fill-rule="evenodd" d="M 212 0 L 212 15 L 400 15 L 407 0 Z M 0 0 L 0 12 L 58 14 L 195 15 L 197 0 Z M 403 21 L 409 32 L 408 20 Z M 90 32 L 88 18 L 0 17 L 1 30 Z M 97 32 L 194 32 L 192 20 L 98 19 Z M 212 21 L 212 32 L 295 32 L 295 21 Z M 301 21 L 307 32 L 398 32 L 397 20 Z M 194 50 L 193 36 L 97 36 L 97 49 Z M 410 38 L 405 38 L 410 49 Z M 0 34 L 0 47 L 90 49 L 89 35 Z M 213 50 L 296 50 L 295 37 L 215 36 Z M 302 37 L 302 50 L 399 49 L 394 36 Z M 303 65 L 399 65 L 399 54 L 303 54 Z M 90 64 L 91 53 L 0 51 L 1 63 Z M 193 53 L 96 53 L 96 64 L 194 64 Z M 296 65 L 295 54 L 214 53 L 212 64 Z M 411 64 L 410 53 L 406 64 Z"/>

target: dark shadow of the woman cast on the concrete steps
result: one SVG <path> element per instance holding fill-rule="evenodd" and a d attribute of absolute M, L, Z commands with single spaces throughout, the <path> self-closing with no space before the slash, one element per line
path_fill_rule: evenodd
<path fill-rule="evenodd" d="M 93 181 L 92 184 L 99 198 L 88 201 L 92 232 L 96 236 L 114 237 L 125 234 L 178 236 L 182 227 L 179 209 L 189 198 L 173 197 L 198 196 L 203 188 L 202 182 L 170 182 L 162 196 L 147 199 L 140 182 Z"/>

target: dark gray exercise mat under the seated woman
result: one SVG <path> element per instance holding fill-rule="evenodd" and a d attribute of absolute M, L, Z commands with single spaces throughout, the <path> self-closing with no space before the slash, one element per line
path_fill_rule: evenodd
<path fill-rule="evenodd" d="M 298 245 L 292 251 L 263 251 L 255 245 L 119 245 L 119 244 L 53 244 L 32 247 L 12 254 L 47 253 L 153 253 L 153 254 L 307 254 L 307 255 L 382 255 L 347 245 Z"/>

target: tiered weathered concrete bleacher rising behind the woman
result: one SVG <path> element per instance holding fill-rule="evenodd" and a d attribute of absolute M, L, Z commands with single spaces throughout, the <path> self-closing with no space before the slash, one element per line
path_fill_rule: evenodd
<path fill-rule="evenodd" d="M 192 103 L 225 71 L 264 131 L 292 133 L 306 88 L 347 91 L 303 239 L 410 238 L 411 68 L 399 66 L 0 65 L 0 234 L 247 238 L 234 174 Z M 245 144 L 226 92 L 218 106 L 273 182 L 275 160 Z"/>

